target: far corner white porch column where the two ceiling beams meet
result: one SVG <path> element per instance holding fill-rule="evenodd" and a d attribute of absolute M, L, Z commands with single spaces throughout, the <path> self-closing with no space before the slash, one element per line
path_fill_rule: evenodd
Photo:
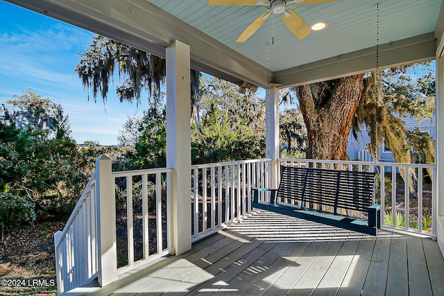
<path fill-rule="evenodd" d="M 271 188 L 277 188 L 277 162 L 280 157 L 279 144 L 279 89 L 277 85 L 270 85 L 266 90 L 266 157 L 271 162 Z"/>

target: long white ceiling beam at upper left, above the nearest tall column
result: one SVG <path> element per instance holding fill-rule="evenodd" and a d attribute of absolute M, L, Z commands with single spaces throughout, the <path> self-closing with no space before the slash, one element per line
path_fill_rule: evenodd
<path fill-rule="evenodd" d="M 174 40 L 191 48 L 191 68 L 238 84 L 266 86 L 266 68 L 146 0 L 6 0 L 162 58 Z"/>

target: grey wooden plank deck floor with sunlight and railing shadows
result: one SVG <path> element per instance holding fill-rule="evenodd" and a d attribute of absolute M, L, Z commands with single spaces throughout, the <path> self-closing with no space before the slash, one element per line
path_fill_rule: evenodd
<path fill-rule="evenodd" d="M 262 211 L 94 295 L 444 295 L 436 241 Z"/>

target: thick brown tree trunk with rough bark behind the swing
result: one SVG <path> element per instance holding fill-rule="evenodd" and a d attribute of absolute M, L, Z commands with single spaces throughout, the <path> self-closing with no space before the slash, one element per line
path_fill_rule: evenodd
<path fill-rule="evenodd" d="M 296 87 L 309 148 L 307 158 L 348 160 L 348 135 L 364 74 Z"/>

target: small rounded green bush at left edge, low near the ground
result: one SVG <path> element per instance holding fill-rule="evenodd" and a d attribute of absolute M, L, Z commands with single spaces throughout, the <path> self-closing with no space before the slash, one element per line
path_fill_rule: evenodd
<path fill-rule="evenodd" d="M 11 193 L 0 193 L 0 226 L 10 229 L 23 223 L 33 224 L 35 204 Z"/>

